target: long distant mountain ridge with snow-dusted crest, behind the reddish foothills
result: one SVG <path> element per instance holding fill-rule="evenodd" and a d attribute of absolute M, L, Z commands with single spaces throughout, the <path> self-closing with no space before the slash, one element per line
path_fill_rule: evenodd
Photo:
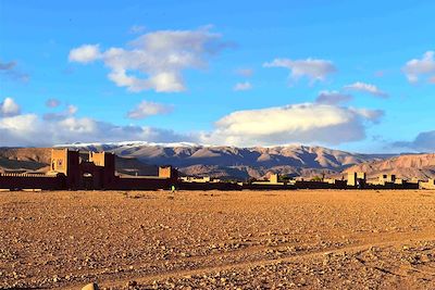
<path fill-rule="evenodd" d="M 263 178 L 268 173 L 313 177 L 332 175 L 371 160 L 390 155 L 358 154 L 323 147 L 210 147 L 192 143 L 75 143 L 60 146 L 89 151 L 110 151 L 146 164 L 178 167 L 182 174 L 220 178 Z"/>

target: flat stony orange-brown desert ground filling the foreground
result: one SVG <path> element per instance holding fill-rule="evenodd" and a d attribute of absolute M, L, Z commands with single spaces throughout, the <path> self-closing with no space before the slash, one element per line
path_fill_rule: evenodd
<path fill-rule="evenodd" d="M 0 206 L 2 289 L 435 289 L 435 191 L 17 191 Z"/>

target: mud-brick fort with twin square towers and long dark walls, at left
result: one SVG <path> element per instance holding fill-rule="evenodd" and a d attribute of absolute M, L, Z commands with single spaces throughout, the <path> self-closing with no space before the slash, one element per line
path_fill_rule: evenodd
<path fill-rule="evenodd" d="M 109 152 L 88 152 L 52 149 L 50 171 L 44 174 L 0 174 L 2 189 L 44 190 L 110 190 L 169 189 L 177 185 L 178 173 L 171 166 L 159 168 L 159 176 L 120 177 L 115 173 L 115 155 Z"/>

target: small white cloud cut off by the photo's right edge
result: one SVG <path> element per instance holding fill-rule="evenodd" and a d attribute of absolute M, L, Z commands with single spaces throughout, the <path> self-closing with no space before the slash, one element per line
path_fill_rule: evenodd
<path fill-rule="evenodd" d="M 422 59 L 413 59 L 406 63 L 402 71 L 410 83 L 417 83 L 421 75 L 435 77 L 434 53 L 426 51 Z"/>

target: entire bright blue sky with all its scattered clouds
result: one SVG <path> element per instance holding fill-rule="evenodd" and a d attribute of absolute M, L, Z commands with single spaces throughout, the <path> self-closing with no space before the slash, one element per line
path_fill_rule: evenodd
<path fill-rule="evenodd" d="M 433 1 L 107 2 L 0 1 L 0 146 L 435 150 Z"/>

